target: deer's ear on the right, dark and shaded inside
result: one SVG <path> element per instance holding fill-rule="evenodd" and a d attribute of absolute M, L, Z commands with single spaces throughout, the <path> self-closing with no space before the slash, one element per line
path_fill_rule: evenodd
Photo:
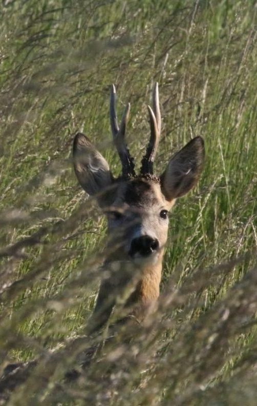
<path fill-rule="evenodd" d="M 204 163 L 204 141 L 196 137 L 170 159 L 161 175 L 161 189 L 167 200 L 185 195 L 196 184 Z"/>

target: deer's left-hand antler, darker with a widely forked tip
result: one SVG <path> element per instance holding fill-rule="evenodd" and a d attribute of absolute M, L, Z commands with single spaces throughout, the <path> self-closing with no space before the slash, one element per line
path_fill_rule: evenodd
<path fill-rule="evenodd" d="M 111 118 L 111 128 L 113 133 L 113 140 L 114 144 L 117 148 L 121 164 L 122 164 L 122 175 L 123 176 L 135 176 L 135 165 L 133 162 L 133 157 L 130 154 L 130 151 L 127 149 L 125 144 L 125 132 L 126 132 L 126 125 L 127 120 L 129 119 L 130 114 L 130 103 L 127 104 L 122 119 L 120 128 L 118 126 L 118 119 L 115 109 L 115 99 L 116 99 L 116 89 L 115 86 L 112 85 L 111 91 L 111 101 L 110 101 L 110 118 Z"/>

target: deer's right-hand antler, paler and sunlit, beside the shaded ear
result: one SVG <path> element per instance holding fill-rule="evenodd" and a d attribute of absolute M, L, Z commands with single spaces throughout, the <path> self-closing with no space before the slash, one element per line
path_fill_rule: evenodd
<path fill-rule="evenodd" d="M 161 135 L 161 112 L 160 112 L 159 90 L 157 82 L 155 84 L 153 92 L 153 110 L 151 109 L 150 106 L 147 106 L 147 109 L 150 119 L 151 136 L 148 147 L 146 149 L 146 153 L 141 161 L 142 175 L 146 173 L 153 174 L 155 155 Z"/>

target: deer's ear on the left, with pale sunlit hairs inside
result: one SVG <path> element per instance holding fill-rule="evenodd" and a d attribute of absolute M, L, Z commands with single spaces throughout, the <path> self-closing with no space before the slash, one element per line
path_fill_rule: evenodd
<path fill-rule="evenodd" d="M 112 185 L 113 176 L 107 161 L 81 133 L 76 134 L 73 141 L 73 163 L 78 181 L 89 195 L 101 195 Z"/>

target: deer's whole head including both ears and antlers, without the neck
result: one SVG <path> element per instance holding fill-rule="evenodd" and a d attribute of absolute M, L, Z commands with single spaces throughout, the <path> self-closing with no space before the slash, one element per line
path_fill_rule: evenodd
<path fill-rule="evenodd" d="M 107 161 L 89 138 L 80 133 L 75 136 L 73 145 L 75 173 L 82 188 L 96 197 L 107 215 L 111 243 L 119 242 L 112 258 L 154 265 L 162 259 L 167 240 L 168 211 L 176 199 L 189 192 L 199 179 L 204 160 L 204 142 L 201 137 L 191 139 L 169 160 L 166 170 L 160 176 L 154 175 L 153 165 L 161 133 L 156 83 L 153 109 L 147 106 L 151 136 L 141 162 L 140 174 L 136 175 L 134 159 L 125 143 L 130 104 L 125 108 L 119 127 L 115 97 L 113 85 L 111 128 L 122 164 L 122 175 L 115 179 Z"/>

